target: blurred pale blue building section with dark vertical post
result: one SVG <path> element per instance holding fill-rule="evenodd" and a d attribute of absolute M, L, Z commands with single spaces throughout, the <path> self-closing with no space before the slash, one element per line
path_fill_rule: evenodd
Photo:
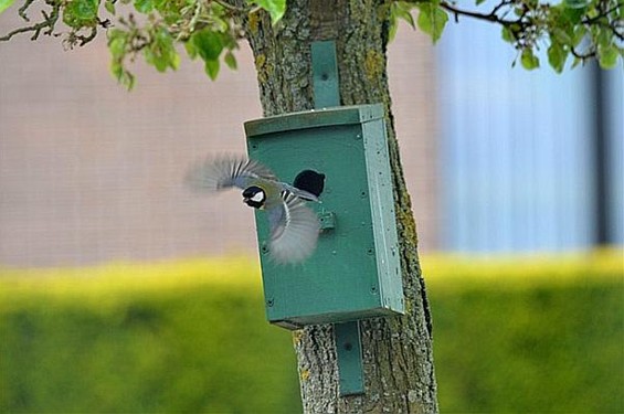
<path fill-rule="evenodd" d="M 437 52 L 441 248 L 585 250 L 624 242 L 620 64 L 511 68 L 496 26 L 464 19 Z M 519 59 L 518 59 L 519 60 Z"/>

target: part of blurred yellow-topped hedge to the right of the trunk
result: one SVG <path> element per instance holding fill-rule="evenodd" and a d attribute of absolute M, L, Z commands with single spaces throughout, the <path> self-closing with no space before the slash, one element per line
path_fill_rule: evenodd
<path fill-rule="evenodd" d="M 624 252 L 430 257 L 441 412 L 624 413 Z"/>

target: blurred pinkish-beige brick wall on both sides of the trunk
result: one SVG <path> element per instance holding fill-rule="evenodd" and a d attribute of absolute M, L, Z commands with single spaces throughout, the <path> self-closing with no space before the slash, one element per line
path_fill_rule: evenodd
<path fill-rule="evenodd" d="M 10 11 L 4 33 L 17 24 Z M 187 166 L 244 152 L 243 121 L 261 116 L 251 52 L 218 82 L 183 60 L 161 75 L 135 65 L 127 93 L 108 74 L 101 36 L 0 44 L 0 264 L 255 254 L 253 214 L 236 192 L 189 193 Z M 405 28 L 390 47 L 390 82 L 422 248 L 436 247 L 435 89 L 430 41 Z"/>

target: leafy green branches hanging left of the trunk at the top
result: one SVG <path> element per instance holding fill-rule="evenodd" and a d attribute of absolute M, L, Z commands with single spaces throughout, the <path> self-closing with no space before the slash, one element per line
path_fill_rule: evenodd
<path fill-rule="evenodd" d="M 0 13 L 14 0 L 0 0 Z M 43 9 L 42 19 L 32 22 L 30 9 Z M 21 28 L 0 35 L 9 41 L 20 33 L 63 35 L 67 49 L 84 46 L 104 30 L 110 51 L 110 72 L 131 89 L 135 75 L 128 63 L 142 55 L 158 72 L 177 70 L 180 55 L 177 43 L 184 45 L 191 60 L 200 57 L 211 79 L 219 74 L 221 62 L 236 67 L 234 51 L 243 39 L 239 20 L 242 15 L 257 19 L 268 13 L 277 23 L 286 11 L 286 0 L 241 0 L 236 4 L 221 0 L 22 0 L 18 14 L 24 20 Z M 59 24 L 59 18 L 65 28 Z"/>

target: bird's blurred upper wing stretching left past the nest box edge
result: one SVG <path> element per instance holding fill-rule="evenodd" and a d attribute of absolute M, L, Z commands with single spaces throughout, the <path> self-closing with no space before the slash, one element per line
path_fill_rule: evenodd
<path fill-rule="evenodd" d="M 187 183 L 199 191 L 218 191 L 231 187 L 244 189 L 254 179 L 275 181 L 262 163 L 244 157 L 209 158 L 195 163 L 187 173 Z"/>

